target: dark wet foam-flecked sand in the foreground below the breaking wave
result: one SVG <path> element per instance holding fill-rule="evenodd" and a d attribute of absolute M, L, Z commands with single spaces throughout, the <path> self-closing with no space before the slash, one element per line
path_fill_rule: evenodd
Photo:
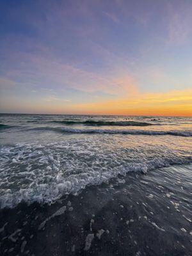
<path fill-rule="evenodd" d="M 1 255 L 191 255 L 191 167 L 128 173 L 0 212 Z"/>

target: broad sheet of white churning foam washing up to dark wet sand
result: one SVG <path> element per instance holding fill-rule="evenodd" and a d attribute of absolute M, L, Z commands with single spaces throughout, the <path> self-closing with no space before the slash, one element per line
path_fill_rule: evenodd
<path fill-rule="evenodd" d="M 160 142 L 142 145 L 138 141 L 137 147 L 134 143 L 130 147 L 129 141 L 125 144 L 123 138 L 117 141 L 115 138 L 76 138 L 3 146 L 0 150 L 1 208 L 14 207 L 22 201 L 51 204 L 68 193 L 79 193 L 86 186 L 108 183 L 118 174 L 147 173 L 192 162 L 188 150 L 179 151 L 177 145 L 167 147 Z"/>

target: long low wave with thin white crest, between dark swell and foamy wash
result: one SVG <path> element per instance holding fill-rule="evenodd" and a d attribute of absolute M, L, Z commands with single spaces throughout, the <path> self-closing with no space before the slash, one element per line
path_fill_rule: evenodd
<path fill-rule="evenodd" d="M 31 130 L 31 129 L 30 129 Z M 73 129 L 67 127 L 36 127 L 32 128 L 36 131 L 55 131 L 62 133 L 74 133 L 74 134 L 127 134 L 127 135 L 172 135 L 191 137 L 192 131 L 145 131 L 145 130 L 120 130 L 120 129 Z"/>

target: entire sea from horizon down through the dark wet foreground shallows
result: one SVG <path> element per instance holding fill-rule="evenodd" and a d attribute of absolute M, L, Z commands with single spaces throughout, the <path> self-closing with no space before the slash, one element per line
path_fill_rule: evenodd
<path fill-rule="evenodd" d="M 0 115 L 1 255 L 191 255 L 192 118 Z"/>

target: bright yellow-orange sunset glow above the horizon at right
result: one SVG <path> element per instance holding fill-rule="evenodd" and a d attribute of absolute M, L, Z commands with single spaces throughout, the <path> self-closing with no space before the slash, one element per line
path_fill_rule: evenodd
<path fill-rule="evenodd" d="M 81 113 L 100 115 L 192 116 L 192 90 L 138 93 L 126 99 L 77 104 L 74 108 Z"/>

